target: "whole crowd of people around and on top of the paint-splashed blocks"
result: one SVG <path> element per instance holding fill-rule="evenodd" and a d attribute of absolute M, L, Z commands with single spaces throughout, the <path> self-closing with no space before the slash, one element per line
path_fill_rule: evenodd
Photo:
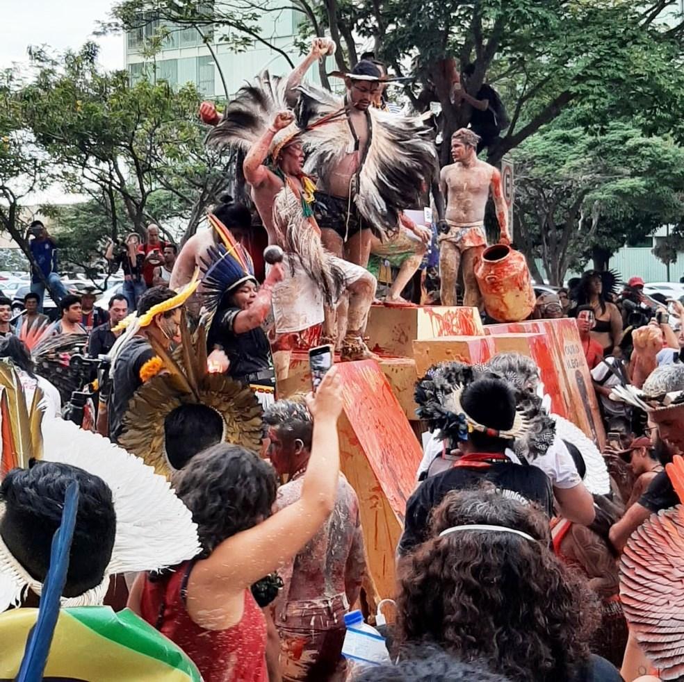
<path fill-rule="evenodd" d="M 429 433 L 413 492 L 392 511 L 401 535 L 382 548 L 396 586 L 375 604 L 362 511 L 389 504 L 359 499 L 341 473 L 343 372 L 276 399 L 275 356 L 314 329 L 343 361 L 376 358 L 364 338 L 371 226 L 384 246 L 398 240 L 386 253 L 418 268 L 430 235 L 407 212 L 428 193 L 443 302 L 459 301 L 460 265 L 466 304 L 482 307 L 473 268 L 490 196 L 505 249 L 510 233 L 474 126 L 454 134 L 455 163 L 438 172 L 423 123 L 386 110 L 380 63 L 341 74 L 343 99 L 302 83 L 333 50 L 316 39 L 288 78 L 262 74 L 222 116 L 202 110 L 209 143 L 245 151 L 270 242 L 261 283 L 252 213 L 225 197 L 180 253 L 156 225 L 144 242 L 108 244 L 124 283 L 106 311 L 92 290 L 59 291 L 56 244 L 34 226 L 39 281 L 14 325 L 0 298 L 0 647 L 10 649 L 0 648 L 0 679 L 41 650 L 49 679 L 117 679 L 117 665 L 121 679 L 172 679 L 125 677 L 111 656 L 99 660 L 106 675 L 76 672 L 86 659 L 97 666 L 104 644 L 90 651 L 69 618 L 82 624 L 103 603 L 126 631 L 121 649 L 144 654 L 140 669 L 173 661 L 173 679 L 679 679 L 684 306 L 649 299 L 639 278 L 619 292 L 612 274 L 586 272 L 532 311 L 576 318 L 605 447 L 551 411 L 527 356 L 440 363 L 418 380 Z M 469 93 L 452 76 L 494 144 L 485 114 L 500 109 L 496 92 Z M 54 323 L 42 315 L 46 284 L 59 294 Z M 407 305 L 397 288 L 388 299 Z M 38 615 L 22 617 L 38 598 Z M 50 626 L 40 613 L 54 615 Z M 31 645 L 46 628 L 62 629 L 51 654 L 51 631 L 47 648 Z"/>

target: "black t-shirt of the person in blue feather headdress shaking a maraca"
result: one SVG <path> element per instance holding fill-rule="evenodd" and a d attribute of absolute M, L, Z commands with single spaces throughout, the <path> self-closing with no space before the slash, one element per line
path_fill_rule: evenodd
<path fill-rule="evenodd" d="M 263 372 L 270 367 L 270 344 L 261 327 L 241 334 L 233 331 L 235 318 L 241 308 L 226 308 L 214 316 L 206 344 L 209 352 L 220 346 L 230 360 L 229 376 L 245 379 L 249 374 Z"/>

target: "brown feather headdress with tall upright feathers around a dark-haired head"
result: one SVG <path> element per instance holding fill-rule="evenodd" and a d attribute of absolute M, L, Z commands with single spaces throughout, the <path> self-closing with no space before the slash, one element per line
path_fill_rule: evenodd
<path fill-rule="evenodd" d="M 215 410 L 223 420 L 226 442 L 254 451 L 261 442 L 261 406 L 252 389 L 207 368 L 206 324 L 203 319 L 193 337 L 183 320 L 181 345 L 174 354 L 150 340 L 166 373 L 138 388 L 122 421 L 119 444 L 169 479 L 174 469 L 166 456 L 164 422 L 181 405 L 202 404 Z"/>

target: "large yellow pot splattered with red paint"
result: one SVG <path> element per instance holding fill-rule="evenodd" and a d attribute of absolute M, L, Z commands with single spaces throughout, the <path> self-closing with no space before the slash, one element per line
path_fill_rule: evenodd
<path fill-rule="evenodd" d="M 487 314 L 498 322 L 520 322 L 535 309 L 537 297 L 532 288 L 525 256 L 505 244 L 494 244 L 482 253 L 475 277 L 485 301 Z"/>

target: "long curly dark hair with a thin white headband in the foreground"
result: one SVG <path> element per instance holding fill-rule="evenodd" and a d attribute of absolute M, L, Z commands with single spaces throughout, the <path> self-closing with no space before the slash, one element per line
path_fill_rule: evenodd
<path fill-rule="evenodd" d="M 532 535 L 458 531 L 489 524 Z M 586 581 L 548 548 L 548 519 L 498 492 L 450 492 L 432 517 L 434 537 L 400 576 L 398 637 L 436 642 L 463 660 L 486 658 L 517 682 L 566 682 L 589 658 L 598 606 Z"/>

